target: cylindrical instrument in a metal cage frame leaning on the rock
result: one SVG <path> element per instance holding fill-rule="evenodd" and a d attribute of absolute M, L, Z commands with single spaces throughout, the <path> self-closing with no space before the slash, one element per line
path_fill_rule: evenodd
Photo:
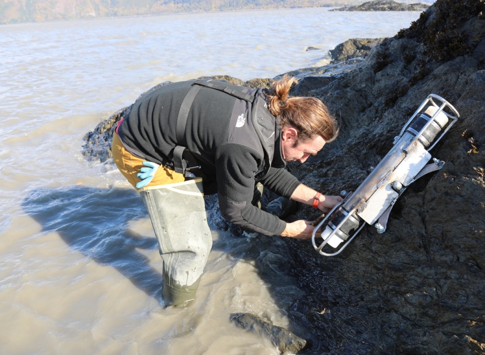
<path fill-rule="evenodd" d="M 446 111 L 445 111 L 446 109 Z M 315 250 L 331 257 L 344 250 L 366 223 L 383 233 L 396 200 L 421 176 L 443 168 L 429 150 L 448 132 L 460 115 L 444 98 L 430 94 L 395 137 L 393 148 L 354 191 L 348 193 L 316 226 Z M 320 229 L 321 228 L 321 229 Z M 321 233 L 320 233 L 321 230 Z M 323 239 L 317 244 L 317 239 Z M 342 246 L 340 246 L 344 243 Z M 340 249 L 324 252 L 332 247 Z"/>

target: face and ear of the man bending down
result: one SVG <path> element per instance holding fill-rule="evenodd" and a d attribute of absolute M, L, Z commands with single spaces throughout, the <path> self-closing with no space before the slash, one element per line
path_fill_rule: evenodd
<path fill-rule="evenodd" d="M 283 129 L 281 132 L 282 153 L 285 162 L 299 161 L 304 163 L 311 155 L 316 155 L 325 145 L 325 139 L 321 136 L 298 141 L 298 131 L 293 128 Z"/>

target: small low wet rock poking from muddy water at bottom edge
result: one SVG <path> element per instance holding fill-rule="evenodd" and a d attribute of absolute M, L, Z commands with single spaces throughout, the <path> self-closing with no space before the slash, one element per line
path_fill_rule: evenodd
<path fill-rule="evenodd" d="M 307 344 L 305 339 L 300 338 L 292 332 L 249 313 L 233 313 L 231 314 L 230 320 L 238 327 L 251 330 L 268 338 L 281 352 L 296 353 L 302 350 Z"/>

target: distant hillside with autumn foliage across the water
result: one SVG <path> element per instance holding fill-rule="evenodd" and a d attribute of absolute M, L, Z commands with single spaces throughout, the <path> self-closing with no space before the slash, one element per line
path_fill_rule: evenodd
<path fill-rule="evenodd" d="M 359 0 L 0 0 L 0 24 L 360 3 Z"/>

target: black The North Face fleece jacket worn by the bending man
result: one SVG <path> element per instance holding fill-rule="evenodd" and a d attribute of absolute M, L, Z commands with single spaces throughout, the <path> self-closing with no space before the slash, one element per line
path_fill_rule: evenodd
<path fill-rule="evenodd" d="M 132 154 L 159 164 L 173 158 L 178 112 L 193 82 L 164 85 L 135 102 L 118 131 Z M 266 109 L 261 89 L 214 83 L 260 97 L 251 105 L 225 92 L 202 87 L 193 100 L 185 139 L 202 167 L 204 192 L 217 191 L 222 216 L 229 222 L 264 235 L 280 235 L 286 223 L 253 206 L 251 200 L 256 176 L 266 188 L 288 198 L 300 184 L 283 169 L 281 129 Z M 254 111 L 256 103 L 258 111 Z M 258 116 L 252 119 L 255 112 Z M 255 120 L 260 121 L 255 124 Z M 265 167 L 268 159 L 271 167 L 267 163 Z"/>

